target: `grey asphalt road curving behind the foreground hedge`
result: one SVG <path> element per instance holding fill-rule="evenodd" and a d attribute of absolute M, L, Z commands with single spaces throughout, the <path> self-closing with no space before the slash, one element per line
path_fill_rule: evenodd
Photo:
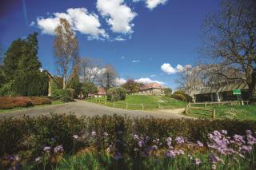
<path fill-rule="evenodd" d="M 102 116 L 102 115 L 118 114 L 122 116 L 127 115 L 130 117 L 153 116 L 157 118 L 179 119 L 184 117 L 179 114 L 181 112 L 182 112 L 182 109 L 158 110 L 158 111 L 115 109 L 115 108 L 106 107 L 104 105 L 89 103 L 86 101 L 75 101 L 75 102 L 70 102 L 63 105 L 49 105 L 49 106 L 42 106 L 38 108 L 21 109 L 21 110 L 13 111 L 10 113 L 0 113 L 0 119 L 3 119 L 4 117 L 18 118 L 18 117 L 23 117 L 23 115 L 27 115 L 30 117 L 39 117 L 41 115 L 50 115 L 50 113 L 75 114 L 78 117 L 81 117 L 83 115 L 84 116 L 95 116 L 95 115 Z"/>

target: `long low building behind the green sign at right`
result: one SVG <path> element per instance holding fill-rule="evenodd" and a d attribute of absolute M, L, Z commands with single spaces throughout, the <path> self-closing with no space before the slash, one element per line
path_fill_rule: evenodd
<path fill-rule="evenodd" d="M 241 89 L 241 95 L 233 94 L 233 89 Z M 216 85 L 215 87 L 205 87 L 203 89 L 192 90 L 189 94 L 194 102 L 220 102 L 220 101 L 248 101 L 248 85 L 245 82 L 227 83 L 226 85 Z"/>

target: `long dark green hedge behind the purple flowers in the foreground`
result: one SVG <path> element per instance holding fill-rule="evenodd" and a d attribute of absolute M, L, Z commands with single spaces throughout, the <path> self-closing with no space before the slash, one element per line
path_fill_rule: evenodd
<path fill-rule="evenodd" d="M 247 129 L 255 132 L 255 121 L 207 121 L 156 119 L 153 117 L 130 118 L 121 116 L 82 117 L 74 115 L 51 115 L 38 118 L 23 117 L 0 121 L 0 156 L 14 154 L 21 150 L 33 151 L 33 156 L 42 153 L 45 146 L 62 144 L 66 152 L 71 152 L 73 135 L 80 136 L 77 148 L 93 144 L 101 150 L 114 140 L 126 144 L 133 143 L 133 135 L 149 136 L 150 139 L 166 141 L 166 136 L 186 136 L 190 141 L 209 142 L 208 134 L 225 129 L 230 136 L 243 135 Z M 95 132 L 92 139 L 91 132 Z M 108 142 L 104 140 L 108 133 Z M 133 145 L 126 145 L 127 151 L 134 151 Z"/>

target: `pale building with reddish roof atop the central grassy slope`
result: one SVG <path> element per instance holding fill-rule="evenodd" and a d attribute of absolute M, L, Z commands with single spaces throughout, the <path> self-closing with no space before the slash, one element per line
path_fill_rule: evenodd
<path fill-rule="evenodd" d="M 165 87 L 154 82 L 147 85 L 143 85 L 141 89 L 139 89 L 139 95 L 157 95 L 162 96 L 164 95 Z"/>

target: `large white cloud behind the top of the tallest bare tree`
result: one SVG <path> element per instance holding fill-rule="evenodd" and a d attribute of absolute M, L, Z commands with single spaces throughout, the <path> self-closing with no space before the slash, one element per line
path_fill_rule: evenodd
<path fill-rule="evenodd" d="M 72 30 L 88 34 L 90 38 L 108 38 L 106 31 L 101 28 L 98 15 L 90 14 L 86 8 L 70 8 L 66 13 L 54 13 L 53 18 L 38 18 L 38 27 L 42 30 L 42 34 L 54 35 L 60 18 L 65 18 Z"/>

